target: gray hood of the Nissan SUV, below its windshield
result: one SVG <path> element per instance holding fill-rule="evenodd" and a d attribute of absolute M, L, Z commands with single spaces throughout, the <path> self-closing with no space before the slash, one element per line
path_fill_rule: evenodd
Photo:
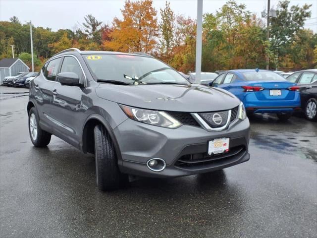
<path fill-rule="evenodd" d="M 128 106 L 178 112 L 211 112 L 234 108 L 240 100 L 218 88 L 190 85 L 100 84 L 98 97 Z"/>

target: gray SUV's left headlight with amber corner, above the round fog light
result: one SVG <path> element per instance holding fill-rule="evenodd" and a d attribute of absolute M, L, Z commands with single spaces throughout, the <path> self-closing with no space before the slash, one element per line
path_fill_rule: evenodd
<path fill-rule="evenodd" d="M 162 111 L 132 108 L 124 105 L 119 106 L 128 116 L 128 118 L 136 121 L 172 129 L 175 129 L 182 125 L 178 120 L 174 119 L 173 117 Z"/>

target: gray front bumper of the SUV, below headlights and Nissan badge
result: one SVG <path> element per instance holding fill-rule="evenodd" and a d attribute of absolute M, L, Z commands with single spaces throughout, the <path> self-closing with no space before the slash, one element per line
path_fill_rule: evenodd
<path fill-rule="evenodd" d="M 127 119 L 113 131 L 122 156 L 122 161 L 118 162 L 119 169 L 131 175 L 165 178 L 201 174 L 240 164 L 250 158 L 248 119 L 237 120 L 219 132 L 189 125 L 169 129 Z M 229 153 L 237 148 L 239 153 L 215 160 L 207 158 L 207 162 L 194 165 L 179 164 L 179 160 L 187 156 L 206 156 L 208 142 L 222 137 L 230 138 Z M 152 158 L 163 159 L 166 168 L 160 172 L 151 171 L 146 162 Z"/>

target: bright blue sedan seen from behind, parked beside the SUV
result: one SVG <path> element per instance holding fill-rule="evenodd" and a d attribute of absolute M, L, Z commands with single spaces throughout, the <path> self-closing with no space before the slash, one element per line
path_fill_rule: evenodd
<path fill-rule="evenodd" d="M 274 113 L 279 119 L 287 120 L 301 106 L 299 87 L 268 70 L 228 70 L 215 78 L 211 86 L 237 96 L 249 115 Z"/>

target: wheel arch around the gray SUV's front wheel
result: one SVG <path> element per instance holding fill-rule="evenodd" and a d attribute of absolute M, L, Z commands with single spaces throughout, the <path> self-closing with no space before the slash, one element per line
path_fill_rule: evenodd
<path fill-rule="evenodd" d="M 83 126 L 82 137 L 81 137 L 81 148 L 84 153 L 95 153 L 95 138 L 94 138 L 94 128 L 97 124 L 102 124 L 106 132 L 109 134 L 115 153 L 118 159 L 118 163 L 122 163 L 122 156 L 119 148 L 119 144 L 115 138 L 114 132 L 110 124 L 99 114 L 90 115 Z"/>

